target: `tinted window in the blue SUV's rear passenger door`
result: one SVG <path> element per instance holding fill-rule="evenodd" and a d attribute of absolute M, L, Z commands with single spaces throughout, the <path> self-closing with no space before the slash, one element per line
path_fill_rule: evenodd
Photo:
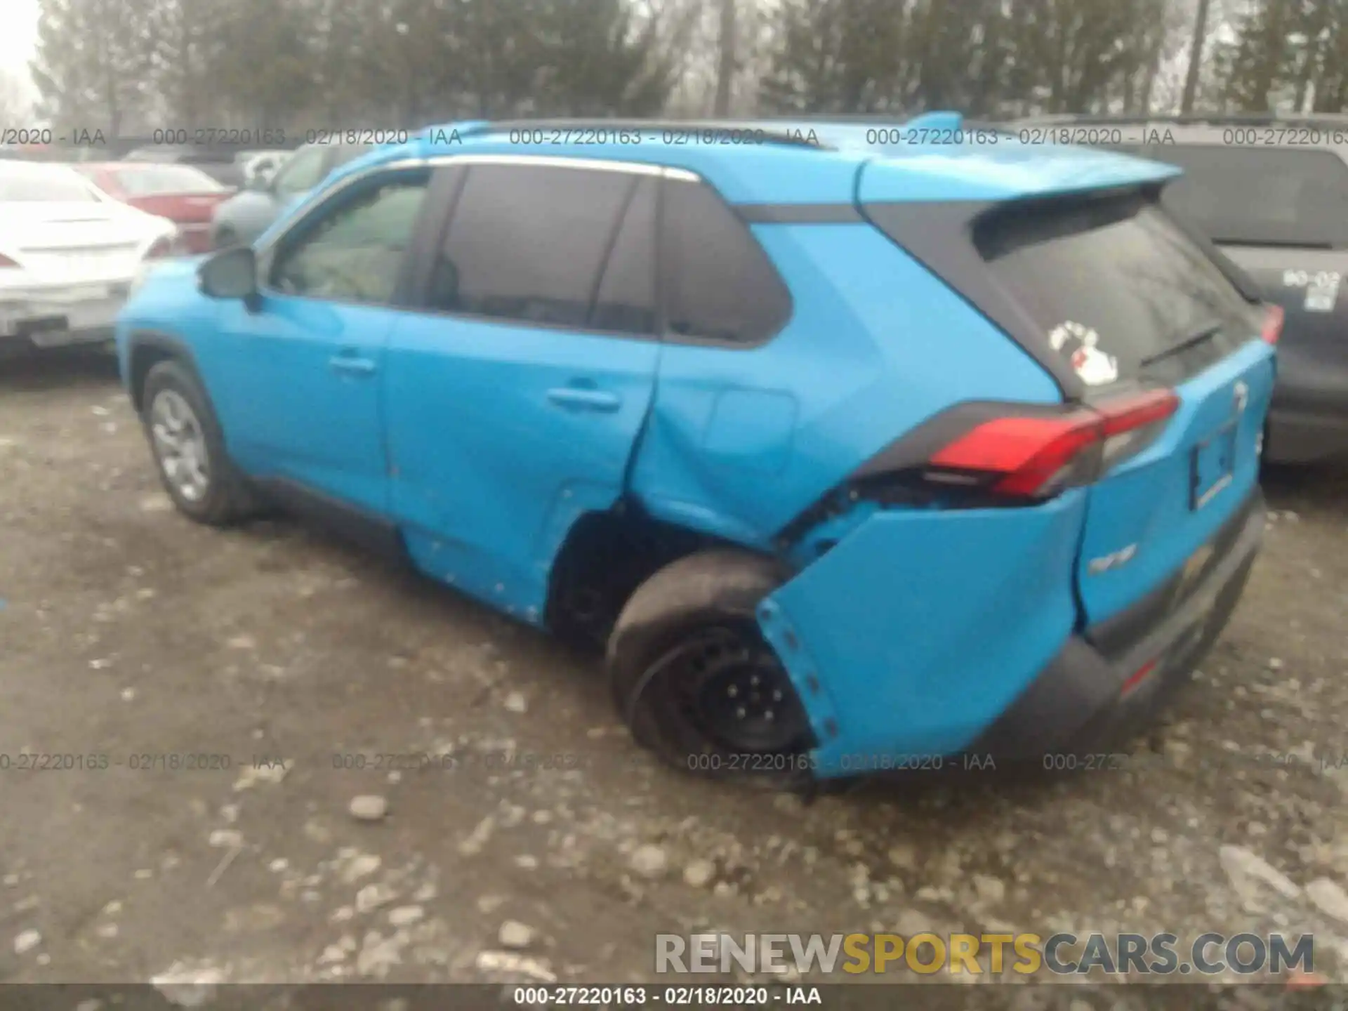
<path fill-rule="evenodd" d="M 588 326 L 615 239 L 639 241 L 627 229 L 617 235 L 639 182 L 582 167 L 472 166 L 431 279 L 430 307 Z M 609 274 L 603 280 L 615 315 L 623 299 L 647 298 L 636 290 L 639 278 Z"/>

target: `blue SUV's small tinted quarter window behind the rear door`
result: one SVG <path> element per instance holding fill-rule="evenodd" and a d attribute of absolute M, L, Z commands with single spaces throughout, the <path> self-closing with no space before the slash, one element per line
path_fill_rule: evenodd
<path fill-rule="evenodd" d="M 754 345 L 791 315 L 791 295 L 748 226 L 706 185 L 665 190 L 665 311 L 670 334 Z"/>

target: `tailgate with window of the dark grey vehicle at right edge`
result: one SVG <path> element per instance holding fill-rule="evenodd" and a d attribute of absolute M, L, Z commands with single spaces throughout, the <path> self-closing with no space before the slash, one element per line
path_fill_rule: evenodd
<path fill-rule="evenodd" d="M 1185 168 L 1166 201 L 1283 307 L 1279 411 L 1348 415 L 1344 154 L 1344 148 L 1198 144 L 1147 151 Z"/>

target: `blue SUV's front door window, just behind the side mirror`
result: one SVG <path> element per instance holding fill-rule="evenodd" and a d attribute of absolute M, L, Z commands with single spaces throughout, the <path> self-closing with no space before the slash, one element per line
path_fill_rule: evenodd
<path fill-rule="evenodd" d="M 271 286 L 287 295 L 387 305 L 398 288 L 407 247 L 426 195 L 427 175 L 398 177 L 301 225 L 271 268 Z"/>

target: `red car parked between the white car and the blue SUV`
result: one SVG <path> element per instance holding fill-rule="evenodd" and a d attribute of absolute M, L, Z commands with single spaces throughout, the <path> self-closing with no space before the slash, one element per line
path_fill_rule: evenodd
<path fill-rule="evenodd" d="M 71 166 L 109 197 L 178 225 L 183 252 L 210 252 L 210 212 L 233 195 L 190 164 L 94 162 Z"/>

